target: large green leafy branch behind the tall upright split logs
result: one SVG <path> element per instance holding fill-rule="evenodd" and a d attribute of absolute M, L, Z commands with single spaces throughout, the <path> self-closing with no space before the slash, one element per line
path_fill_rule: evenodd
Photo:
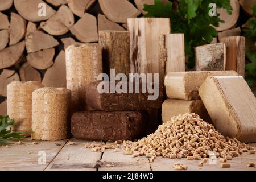
<path fill-rule="evenodd" d="M 223 22 L 217 16 L 209 16 L 209 4 L 216 3 L 218 8 L 224 8 L 228 14 L 232 14 L 230 0 L 180 0 L 177 10 L 168 1 L 165 4 L 161 0 L 155 0 L 154 5 L 144 5 L 147 11 L 145 17 L 170 18 L 172 33 L 183 33 L 185 35 L 185 54 L 189 57 L 188 68 L 195 65 L 194 50 L 196 46 L 208 44 L 218 35 L 213 27 L 218 27 Z M 213 25 L 213 26 L 211 26 Z"/>

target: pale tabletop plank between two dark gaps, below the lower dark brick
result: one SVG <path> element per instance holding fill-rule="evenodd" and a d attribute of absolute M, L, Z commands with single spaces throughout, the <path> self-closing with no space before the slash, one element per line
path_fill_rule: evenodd
<path fill-rule="evenodd" d="M 84 148 L 84 145 L 90 146 L 92 142 L 85 142 L 72 139 L 72 145 L 68 143 L 59 152 L 56 158 L 46 168 L 47 171 L 94 171 L 93 168 L 97 160 L 101 159 L 101 152 L 93 152 L 91 148 Z"/>

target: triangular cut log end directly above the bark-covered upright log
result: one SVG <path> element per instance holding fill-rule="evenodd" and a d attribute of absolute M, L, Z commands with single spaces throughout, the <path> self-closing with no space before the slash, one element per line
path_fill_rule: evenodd
<path fill-rule="evenodd" d="M 102 14 L 98 14 L 98 31 L 104 30 L 116 30 L 116 31 L 125 31 L 125 28 L 119 26 L 119 24 L 112 22 Z"/>

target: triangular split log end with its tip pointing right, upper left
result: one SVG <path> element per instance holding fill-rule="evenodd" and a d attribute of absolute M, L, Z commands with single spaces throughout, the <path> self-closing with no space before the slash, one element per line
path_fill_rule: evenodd
<path fill-rule="evenodd" d="M 37 52 L 43 49 L 52 48 L 59 45 L 59 42 L 53 36 L 44 34 L 42 31 L 34 30 L 27 32 L 26 35 L 26 48 L 28 53 Z M 28 30 L 30 29 L 28 28 Z"/>

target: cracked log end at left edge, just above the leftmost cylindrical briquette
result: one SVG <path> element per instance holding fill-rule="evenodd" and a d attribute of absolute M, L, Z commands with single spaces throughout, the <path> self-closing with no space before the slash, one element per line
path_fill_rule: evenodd
<path fill-rule="evenodd" d="M 19 81 L 19 75 L 14 70 L 3 69 L 0 74 L 0 96 L 7 96 L 7 85 L 13 81 Z"/>

